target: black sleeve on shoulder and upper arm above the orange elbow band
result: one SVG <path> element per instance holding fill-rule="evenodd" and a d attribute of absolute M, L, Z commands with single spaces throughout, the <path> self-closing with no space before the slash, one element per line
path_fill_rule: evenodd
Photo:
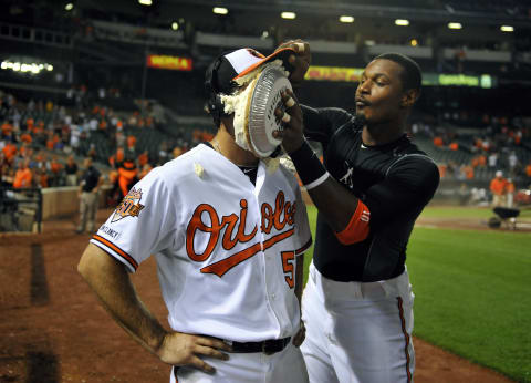
<path fill-rule="evenodd" d="M 382 227 L 404 215 L 416 218 L 438 185 L 439 170 L 429 158 L 406 156 L 398 161 L 362 198 L 371 210 L 371 227 Z"/>

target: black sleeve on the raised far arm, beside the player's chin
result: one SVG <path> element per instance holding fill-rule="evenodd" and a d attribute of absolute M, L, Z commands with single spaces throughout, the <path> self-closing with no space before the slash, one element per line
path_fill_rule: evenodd
<path fill-rule="evenodd" d="M 337 107 L 313 108 L 301 105 L 304 136 L 308 139 L 316 141 L 326 146 L 334 132 L 354 120 L 354 116 Z"/>

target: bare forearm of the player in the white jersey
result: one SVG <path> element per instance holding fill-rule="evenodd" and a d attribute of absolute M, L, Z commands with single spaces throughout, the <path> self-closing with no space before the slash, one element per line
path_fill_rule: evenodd
<path fill-rule="evenodd" d="M 116 323 L 145 349 L 156 353 L 166 330 L 139 300 L 125 267 L 91 244 L 77 270 Z"/>

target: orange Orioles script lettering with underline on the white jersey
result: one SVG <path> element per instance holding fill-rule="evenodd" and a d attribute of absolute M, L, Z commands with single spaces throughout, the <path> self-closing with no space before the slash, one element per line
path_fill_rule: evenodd
<path fill-rule="evenodd" d="M 285 226 L 293 226 L 295 220 L 295 204 L 285 200 L 284 193 L 279 192 L 277 194 L 277 198 L 274 201 L 274 206 L 269 205 L 268 203 L 263 203 L 261 206 L 261 230 L 264 234 L 270 234 L 271 229 L 274 227 L 278 231 L 281 231 L 285 228 Z M 204 221 L 204 215 L 208 216 L 206 221 Z M 216 209 L 208 205 L 201 204 L 199 205 L 194 215 L 188 222 L 186 229 L 186 251 L 188 257 L 197 262 L 202 262 L 207 260 L 216 246 L 218 245 L 219 240 L 221 239 L 221 245 L 225 250 L 231 250 L 237 244 L 244 244 L 251 241 L 257 232 L 258 227 L 254 228 L 249 232 L 246 234 L 246 224 L 247 224 L 247 215 L 248 215 L 248 203 L 246 199 L 240 200 L 240 211 L 239 214 L 230 214 L 228 216 L 219 217 Z M 207 246 L 205 250 L 198 252 L 195 249 L 194 239 L 196 237 L 197 231 L 201 231 L 208 235 Z M 282 236 L 281 239 L 288 238 L 293 234 L 293 229 L 288 230 L 287 232 L 280 234 Z M 279 235 L 277 235 L 279 236 Z M 281 240 L 279 238 L 279 240 Z M 270 244 L 274 244 L 275 241 L 271 241 L 271 238 L 268 240 Z M 258 246 L 257 246 L 258 245 Z M 266 249 L 266 247 L 264 247 Z M 246 251 L 247 250 L 247 251 Z M 258 251 L 262 250 L 260 244 L 253 244 L 250 248 L 239 251 L 236 255 L 232 255 L 225 259 L 223 261 L 228 260 L 229 258 L 239 256 L 241 259 L 237 261 L 237 263 L 252 257 Z M 251 251 L 256 250 L 256 251 Z M 236 259 L 235 259 L 236 260 Z M 230 268 L 236 266 L 235 260 L 231 262 L 226 262 L 227 265 L 230 263 Z M 219 263 L 219 262 L 218 262 Z M 215 263 L 216 265 L 216 263 Z M 214 266 L 214 265 L 212 265 Z M 202 272 L 215 272 L 217 275 L 227 272 L 228 269 L 218 268 L 216 271 L 211 271 L 209 268 L 206 270 L 201 270 Z"/>

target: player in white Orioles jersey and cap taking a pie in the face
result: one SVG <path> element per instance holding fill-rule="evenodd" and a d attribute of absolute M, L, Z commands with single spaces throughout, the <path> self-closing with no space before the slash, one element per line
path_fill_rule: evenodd
<path fill-rule="evenodd" d="M 279 55 L 237 52 L 209 69 L 211 96 Z M 311 234 L 299 184 L 275 159 L 238 143 L 225 111 L 212 113 L 219 128 L 211 143 L 133 187 L 77 269 L 117 323 L 174 365 L 170 382 L 308 382 L 300 292 Z M 152 253 L 170 332 L 127 275 Z"/>

